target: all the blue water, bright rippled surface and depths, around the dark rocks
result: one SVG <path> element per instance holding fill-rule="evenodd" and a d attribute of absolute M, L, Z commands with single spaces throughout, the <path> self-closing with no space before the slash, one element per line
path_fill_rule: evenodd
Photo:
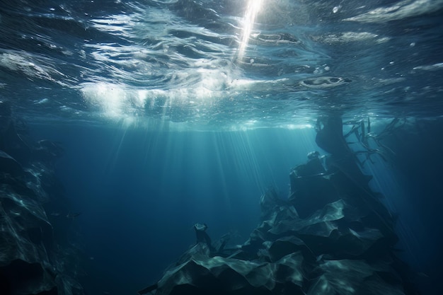
<path fill-rule="evenodd" d="M 439 294 L 442 16 L 442 0 L 1 0 L 0 102 L 64 146 L 47 214 L 87 294 L 155 282 L 196 222 L 244 243 L 260 195 L 287 197 L 289 170 L 321 151 L 326 115 L 345 131 L 369 117 L 374 135 L 406 122 L 388 161 L 362 168 L 423 294 Z"/>

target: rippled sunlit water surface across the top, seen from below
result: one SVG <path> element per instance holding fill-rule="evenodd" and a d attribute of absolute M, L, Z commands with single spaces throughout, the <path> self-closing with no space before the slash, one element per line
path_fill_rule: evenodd
<path fill-rule="evenodd" d="M 443 113 L 442 0 L 0 2 L 0 100 L 30 121 L 244 129 Z"/>

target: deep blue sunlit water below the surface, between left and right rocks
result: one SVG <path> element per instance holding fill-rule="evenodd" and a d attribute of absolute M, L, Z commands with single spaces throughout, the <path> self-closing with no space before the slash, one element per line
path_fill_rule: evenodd
<path fill-rule="evenodd" d="M 61 141 L 57 164 L 71 223 L 84 251 L 84 278 L 99 294 L 134 293 L 159 279 L 205 222 L 214 239 L 244 243 L 260 221 L 260 195 L 289 192 L 289 169 L 315 149 L 313 129 L 145 132 L 86 126 L 36 127 Z M 54 224 L 63 216 L 52 217 Z"/>

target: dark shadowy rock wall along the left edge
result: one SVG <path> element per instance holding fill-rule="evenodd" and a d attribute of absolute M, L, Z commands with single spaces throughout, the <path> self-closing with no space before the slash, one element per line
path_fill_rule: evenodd
<path fill-rule="evenodd" d="M 50 141 L 25 144 L 6 106 L 0 105 L 0 294 L 83 294 L 64 274 L 43 208 L 61 149 Z"/>

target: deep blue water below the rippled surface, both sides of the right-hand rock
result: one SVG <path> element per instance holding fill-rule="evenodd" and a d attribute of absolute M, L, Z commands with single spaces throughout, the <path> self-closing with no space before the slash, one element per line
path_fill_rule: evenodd
<path fill-rule="evenodd" d="M 392 163 L 374 158 L 367 172 L 386 207 L 398 214 L 398 249 L 427 290 L 438 292 L 443 206 L 442 120 L 389 139 Z M 159 279 L 192 243 L 204 221 L 218 238 L 241 244 L 260 220 L 260 195 L 289 192 L 289 169 L 320 150 L 313 129 L 248 132 L 146 132 L 137 128 L 36 125 L 34 137 L 62 142 L 57 163 L 69 203 L 63 224 L 81 249 L 81 282 L 91 294 L 132 294 Z M 405 145 L 405 143 L 408 143 Z M 49 212 L 48 212 L 49 213 Z M 55 226 L 63 216 L 50 216 Z M 428 289 L 428 288 L 431 288 Z M 435 293 L 438 294 L 438 293 Z"/>

